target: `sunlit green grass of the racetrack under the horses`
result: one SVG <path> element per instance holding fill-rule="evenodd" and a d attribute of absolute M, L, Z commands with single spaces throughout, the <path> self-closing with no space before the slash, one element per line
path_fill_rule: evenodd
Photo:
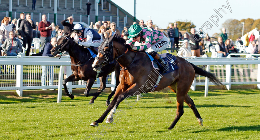
<path fill-rule="evenodd" d="M 125 114 L 111 129 L 102 127 L 108 126 L 105 122 L 90 126 L 105 111 L 108 93 L 94 104 L 88 104 L 91 97 L 74 95 L 74 100 L 63 96 L 59 104 L 56 94 L 1 95 L 0 139 L 84 140 L 102 128 L 104 136 L 97 134 L 97 139 L 260 139 L 259 90 L 211 90 L 208 97 L 203 91 L 190 91 L 203 126 L 184 104 L 184 114 L 172 130 L 167 129 L 176 111 L 176 94 L 171 91 L 147 93 L 133 107 L 121 102 L 118 109 Z M 134 97 L 129 99 L 134 103 Z"/>

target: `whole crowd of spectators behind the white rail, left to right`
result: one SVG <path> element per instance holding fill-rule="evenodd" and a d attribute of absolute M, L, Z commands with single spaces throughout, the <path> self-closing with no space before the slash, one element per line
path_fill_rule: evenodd
<path fill-rule="evenodd" d="M 50 47 L 51 39 L 55 38 L 58 40 L 62 35 L 73 32 L 72 29 L 75 24 L 73 23 L 74 19 L 72 16 L 61 21 L 63 29 L 60 29 L 59 25 L 55 25 L 54 23 L 47 21 L 46 15 L 42 15 L 41 18 L 42 20 L 40 22 L 34 23 L 30 14 L 25 15 L 24 13 L 20 13 L 20 18 L 13 20 L 11 20 L 11 17 L 4 17 L 0 26 L 0 43 L 3 46 L 1 48 L 3 50 L 2 55 L 17 55 L 23 51 L 22 47 L 25 48 L 27 46 L 26 56 L 29 56 L 30 48 L 31 46 L 33 47 L 32 40 L 34 37 L 41 39 L 41 53 L 44 53 L 46 44 Z M 139 23 L 133 22 L 133 24 L 138 24 L 142 28 L 148 27 L 158 30 L 158 26 L 153 26 L 153 21 L 151 19 L 146 22 L 141 19 Z M 119 31 L 119 29 L 116 28 L 115 22 L 98 21 L 94 24 L 91 22 L 89 28 L 92 28 L 98 32 L 100 36 L 104 34 L 105 37 L 111 37 L 117 33 L 124 37 L 125 40 L 128 39 L 128 28 L 124 27 L 122 31 Z M 209 50 L 209 47 L 214 47 L 218 57 L 226 57 L 229 53 L 239 53 L 236 46 L 240 45 L 245 46 L 244 53 L 259 53 L 260 46 L 258 46 L 258 42 L 260 41 L 260 37 L 255 38 L 253 33 L 251 33 L 250 36 L 249 33 L 245 34 L 244 43 L 240 37 L 237 38 L 236 43 L 234 43 L 228 38 L 226 28 L 223 28 L 222 33 L 217 39 L 218 41 L 213 43 L 208 34 L 206 34 L 204 38 L 202 33 L 203 31 L 199 32 L 200 34 L 196 34 L 195 28 L 192 28 L 189 35 L 187 33 L 182 35 L 176 22 L 169 24 L 169 28 L 167 29 L 167 36 L 170 42 L 168 48 L 179 48 L 179 40 L 184 40 L 183 43 L 180 43 L 183 45 L 180 46 L 180 50 L 182 51 L 179 50 L 178 52 L 178 55 L 182 57 L 201 57 L 205 55 L 205 53 Z M 200 40 L 195 38 L 200 38 Z M 22 42 L 19 39 L 22 40 Z M 11 44 L 10 42 L 14 43 Z M 21 43 L 23 43 L 23 45 Z M 172 50 L 171 52 L 174 51 Z"/>

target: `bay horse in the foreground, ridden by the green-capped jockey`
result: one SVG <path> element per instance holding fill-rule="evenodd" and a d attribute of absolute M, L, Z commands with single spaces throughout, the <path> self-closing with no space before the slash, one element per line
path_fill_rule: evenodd
<path fill-rule="evenodd" d="M 197 121 L 202 125 L 201 116 L 197 111 L 193 100 L 188 95 L 188 91 L 192 85 L 195 74 L 205 76 L 213 83 L 222 85 L 219 79 L 216 78 L 214 74 L 189 63 L 185 59 L 170 54 L 172 57 L 176 58 L 175 63 L 178 66 L 178 69 L 163 75 L 158 86 L 155 87 L 156 79 L 158 79 L 159 76 L 158 70 L 153 68 L 151 60 L 145 52 L 133 51 L 130 48 L 132 47 L 130 45 L 125 45 L 125 40 L 118 35 L 106 39 L 104 39 L 103 36 L 103 42 L 98 47 L 98 56 L 95 58 L 92 65 L 93 70 L 99 71 L 101 70 L 102 64 L 116 60 L 121 66 L 119 77 L 120 83 L 116 88 L 114 98 L 106 111 L 98 120 L 90 125 L 98 126 L 98 123 L 103 122 L 110 111 L 106 123 L 113 122 L 113 114 L 116 112 L 119 103 L 124 99 L 126 99 L 127 102 L 128 97 L 135 95 L 140 96 L 141 93 L 151 91 L 160 91 L 167 86 L 176 93 L 177 99 L 176 116 L 168 129 L 172 129 L 183 115 L 184 102 L 193 110 Z M 151 74 L 152 72 L 154 74 Z"/>

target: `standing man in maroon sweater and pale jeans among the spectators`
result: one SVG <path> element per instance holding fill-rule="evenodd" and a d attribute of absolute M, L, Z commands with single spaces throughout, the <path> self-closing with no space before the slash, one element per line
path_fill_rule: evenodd
<path fill-rule="evenodd" d="M 41 32 L 41 52 L 43 53 L 45 44 L 47 42 L 50 42 L 50 35 L 51 35 L 51 31 L 52 31 L 52 26 L 50 24 L 49 21 L 47 21 L 47 16 L 46 15 L 42 15 L 41 16 L 41 22 L 39 23 L 39 27 L 38 30 Z"/>

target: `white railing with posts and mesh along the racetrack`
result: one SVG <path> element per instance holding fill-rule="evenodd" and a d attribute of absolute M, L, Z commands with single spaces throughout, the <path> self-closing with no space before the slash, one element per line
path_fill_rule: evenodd
<path fill-rule="evenodd" d="M 0 75 L 0 90 L 16 90 L 18 95 L 22 96 L 22 91 L 25 89 L 58 88 L 58 95 L 60 96 L 58 102 L 61 100 L 64 66 L 67 68 L 67 76 L 72 74 L 69 57 L 58 59 L 54 57 L 0 56 L 0 58 L 0 65 L 4 65 L 2 68 L 4 74 Z M 257 84 L 260 89 L 260 59 L 258 58 L 186 57 L 185 59 L 214 73 L 226 86 L 227 90 L 231 89 L 231 85 L 237 84 Z M 46 85 L 41 85 L 42 65 L 54 66 L 53 85 L 48 85 L 50 76 L 46 76 Z M 85 84 L 85 81 L 69 82 L 67 87 L 72 92 L 72 88 L 85 88 Z M 197 85 L 205 85 L 206 96 L 208 85 L 213 85 L 213 83 L 208 82 L 207 78 L 198 75 L 197 80 L 194 79 L 191 89 L 196 90 Z M 99 86 L 99 84 L 93 85 L 93 87 Z M 106 86 L 112 89 L 115 87 L 114 73 L 107 78 Z"/>

